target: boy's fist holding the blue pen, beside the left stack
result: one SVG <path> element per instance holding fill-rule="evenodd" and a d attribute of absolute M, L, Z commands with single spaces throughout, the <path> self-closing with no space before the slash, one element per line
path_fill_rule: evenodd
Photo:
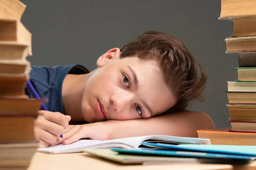
<path fill-rule="evenodd" d="M 39 111 L 35 120 L 35 137 L 40 140 L 40 147 L 48 147 L 49 144 L 60 140 L 60 135 L 68 127 L 71 117 L 59 112 Z"/>

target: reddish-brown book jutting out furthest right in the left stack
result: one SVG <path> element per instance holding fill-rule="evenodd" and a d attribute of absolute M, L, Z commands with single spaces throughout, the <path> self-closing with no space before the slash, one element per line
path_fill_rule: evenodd
<path fill-rule="evenodd" d="M 41 102 L 45 99 L 0 98 L 0 117 L 2 116 L 37 116 Z"/>

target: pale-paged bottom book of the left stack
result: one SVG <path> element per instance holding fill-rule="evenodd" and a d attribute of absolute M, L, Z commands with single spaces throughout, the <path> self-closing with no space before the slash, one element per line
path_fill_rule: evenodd
<path fill-rule="evenodd" d="M 0 144 L 0 169 L 26 170 L 38 145 L 39 142 Z"/>

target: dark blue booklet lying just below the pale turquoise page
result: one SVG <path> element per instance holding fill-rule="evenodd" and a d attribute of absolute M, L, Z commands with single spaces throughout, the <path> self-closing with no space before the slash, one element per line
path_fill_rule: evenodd
<path fill-rule="evenodd" d="M 192 152 L 180 150 L 163 150 L 152 148 L 132 148 L 132 149 L 118 149 L 111 148 L 120 154 L 133 154 L 133 155 L 148 155 L 148 156 L 172 156 L 172 157 L 186 157 L 186 158 L 204 158 L 204 159 L 236 159 L 236 161 L 253 161 L 255 156 L 241 156 L 224 153 L 207 153 L 207 152 Z"/>

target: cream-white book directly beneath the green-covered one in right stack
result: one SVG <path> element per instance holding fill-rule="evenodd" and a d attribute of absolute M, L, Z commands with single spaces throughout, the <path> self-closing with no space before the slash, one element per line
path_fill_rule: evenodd
<path fill-rule="evenodd" d="M 256 82 L 227 82 L 228 91 L 256 92 Z"/>

